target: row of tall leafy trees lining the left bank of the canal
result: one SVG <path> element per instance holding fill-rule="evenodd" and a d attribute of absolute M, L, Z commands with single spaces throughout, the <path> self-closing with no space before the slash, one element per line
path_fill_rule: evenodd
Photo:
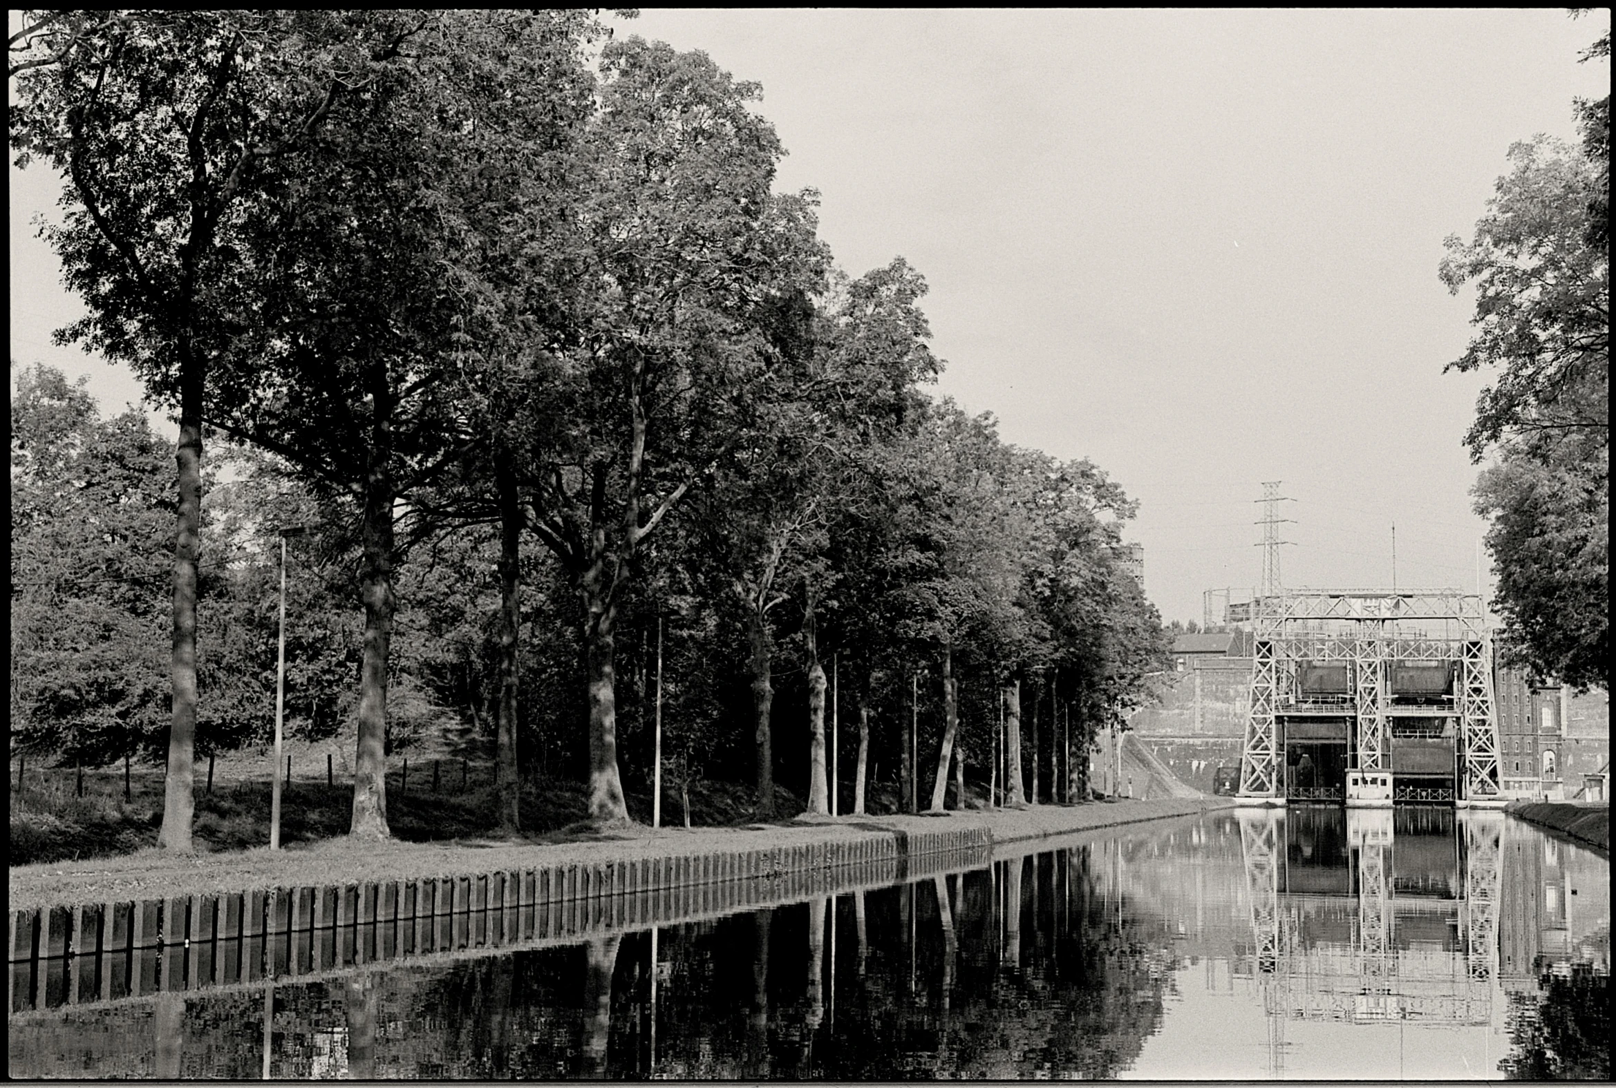
<path fill-rule="evenodd" d="M 257 702 L 241 684 L 263 676 L 273 541 L 292 525 L 314 526 L 301 550 L 323 571 L 305 592 L 364 613 L 357 639 L 330 621 L 291 647 L 309 728 L 320 707 L 356 722 L 359 836 L 388 835 L 404 681 L 417 722 L 491 718 L 504 826 L 524 747 L 587 775 L 591 818 L 625 820 L 622 770 L 643 759 L 619 751 L 619 696 L 643 736 L 648 636 L 669 625 L 684 765 L 732 773 L 750 749 L 764 815 L 776 767 L 805 767 L 810 809 L 827 807 L 827 655 L 856 707 L 855 804 L 890 739 L 913 789 L 921 668 L 941 681 L 941 806 L 950 765 L 963 789 L 965 752 L 989 762 L 1000 710 L 1020 791 L 1023 684 L 1034 723 L 1052 688 L 1047 720 L 1063 705 L 1081 752 L 1160 667 L 1159 618 L 1117 557 L 1131 502 L 1088 462 L 1004 444 L 991 416 L 920 391 L 941 368 L 923 278 L 902 260 L 834 270 L 816 195 L 772 190 L 784 152 L 760 89 L 706 55 L 609 40 L 585 11 L 24 18 L 13 149 L 66 179 L 44 231 L 86 302 L 60 337 L 128 363 L 179 441 L 166 722 L 150 673 L 121 702 L 79 689 L 76 709 L 61 684 L 15 684 L 13 710 L 34 746 L 86 755 L 110 752 L 97 730 L 162 733 L 162 844 L 191 846 L 197 744 L 262 738 L 262 680 Z M 15 636 L 73 591 L 50 534 L 84 533 L 48 489 L 94 450 L 50 446 L 52 413 L 79 434 L 123 426 L 150 467 L 134 416 L 102 423 L 48 371 L 23 387 L 13 491 L 40 489 L 39 536 L 13 580 L 42 612 L 15 609 Z M 19 428 L 19 410 L 36 418 Z M 234 559 L 208 563 L 215 549 Z M 139 588 L 105 578 L 149 628 L 154 555 L 133 550 Z M 208 604 L 233 592 L 234 610 Z M 199 626 L 228 615 L 239 646 L 228 621 Z M 15 675 L 42 675 L 26 654 L 73 652 L 24 634 Z M 782 660 L 808 731 L 784 760 Z M 331 691 L 356 675 L 351 699 Z M 554 697 L 524 707 L 540 691 Z M 1034 797 L 1054 734 L 1034 738 Z"/>

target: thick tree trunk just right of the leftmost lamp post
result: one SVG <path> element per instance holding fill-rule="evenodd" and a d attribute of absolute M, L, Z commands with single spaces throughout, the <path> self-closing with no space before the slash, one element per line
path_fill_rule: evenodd
<path fill-rule="evenodd" d="M 365 523 L 362 528 L 365 602 L 364 663 L 359 676 L 359 752 L 354 759 L 354 814 L 347 833 L 385 839 L 388 831 L 388 652 L 393 642 L 393 412 L 388 392 L 373 391 Z"/>

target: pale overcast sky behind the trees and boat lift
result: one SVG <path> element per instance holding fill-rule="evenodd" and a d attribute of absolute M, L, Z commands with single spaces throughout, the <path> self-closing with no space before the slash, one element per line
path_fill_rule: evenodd
<path fill-rule="evenodd" d="M 1199 618 L 1260 575 L 1254 499 L 1283 481 L 1285 581 L 1475 584 L 1485 525 L 1459 439 L 1482 379 L 1443 375 L 1472 297 L 1437 279 L 1509 144 L 1574 139 L 1608 90 L 1577 55 L 1608 15 L 1529 11 L 646 10 L 617 34 L 708 52 L 763 84 L 858 274 L 903 255 L 939 384 L 1007 441 L 1089 457 L 1139 499 L 1146 591 Z M 11 168 L 11 357 L 78 305 Z"/>

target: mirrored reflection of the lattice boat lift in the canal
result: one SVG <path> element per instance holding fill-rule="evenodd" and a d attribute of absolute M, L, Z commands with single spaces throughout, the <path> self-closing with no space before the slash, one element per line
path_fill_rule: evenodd
<path fill-rule="evenodd" d="M 1285 1020 L 1488 1025 L 1504 815 L 1446 807 L 1241 810 L 1270 1073 Z"/>

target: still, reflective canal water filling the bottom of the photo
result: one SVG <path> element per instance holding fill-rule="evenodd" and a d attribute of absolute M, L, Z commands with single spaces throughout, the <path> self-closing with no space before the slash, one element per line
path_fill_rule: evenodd
<path fill-rule="evenodd" d="M 966 865 L 575 944 L 472 919 L 320 978 L 13 986 L 10 1075 L 1610 1075 L 1608 860 L 1501 814 L 1223 810 Z"/>

